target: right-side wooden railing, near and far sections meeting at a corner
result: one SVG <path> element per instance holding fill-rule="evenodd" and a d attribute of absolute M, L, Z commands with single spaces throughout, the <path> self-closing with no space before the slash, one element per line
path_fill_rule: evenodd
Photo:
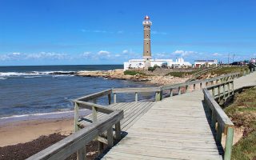
<path fill-rule="evenodd" d="M 231 86 L 231 87 L 230 87 Z M 214 90 L 218 90 L 218 94 Z M 211 90 L 211 92 L 210 92 Z M 230 118 L 222 110 L 222 107 L 218 105 L 215 99 L 220 101 L 220 98 L 226 99 L 234 94 L 234 81 L 222 82 L 214 86 L 208 86 L 202 89 L 204 94 L 204 102 L 206 104 L 206 110 L 210 115 L 210 126 L 216 132 L 215 140 L 221 145 L 222 134 L 226 134 L 226 146 L 224 153 L 224 160 L 230 160 L 232 152 L 232 144 L 234 138 L 234 124 Z"/>

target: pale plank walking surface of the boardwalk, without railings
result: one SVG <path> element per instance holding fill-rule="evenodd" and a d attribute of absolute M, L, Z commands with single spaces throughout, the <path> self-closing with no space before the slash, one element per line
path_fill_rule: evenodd
<path fill-rule="evenodd" d="M 234 89 L 256 84 L 256 74 Z M 155 102 L 103 159 L 222 159 L 202 104 L 201 90 Z"/>

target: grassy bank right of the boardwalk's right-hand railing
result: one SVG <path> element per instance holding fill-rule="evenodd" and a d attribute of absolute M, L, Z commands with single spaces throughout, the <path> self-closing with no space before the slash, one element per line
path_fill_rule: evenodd
<path fill-rule="evenodd" d="M 232 160 L 256 159 L 256 88 L 236 94 L 234 102 L 225 112 L 234 126 L 245 128 L 244 136 L 233 146 Z"/>

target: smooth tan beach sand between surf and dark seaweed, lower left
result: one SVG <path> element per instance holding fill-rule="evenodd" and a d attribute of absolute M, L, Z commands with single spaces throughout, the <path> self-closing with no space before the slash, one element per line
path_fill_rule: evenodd
<path fill-rule="evenodd" d="M 0 126 L 0 146 L 30 142 L 42 135 L 73 132 L 73 118 L 42 119 L 10 122 Z"/>

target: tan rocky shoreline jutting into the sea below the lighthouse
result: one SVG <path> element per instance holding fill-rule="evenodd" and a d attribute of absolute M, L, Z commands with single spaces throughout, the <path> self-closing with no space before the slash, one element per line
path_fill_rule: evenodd
<path fill-rule="evenodd" d="M 178 82 L 186 82 L 188 78 L 178 78 L 174 76 L 167 75 L 146 75 L 146 74 L 135 74 L 135 75 L 125 75 L 123 70 L 107 70 L 107 71 L 79 71 L 77 76 L 82 77 L 101 77 L 106 79 L 119 79 L 128 80 L 134 82 L 146 82 L 154 85 L 166 85 L 174 84 Z"/>

